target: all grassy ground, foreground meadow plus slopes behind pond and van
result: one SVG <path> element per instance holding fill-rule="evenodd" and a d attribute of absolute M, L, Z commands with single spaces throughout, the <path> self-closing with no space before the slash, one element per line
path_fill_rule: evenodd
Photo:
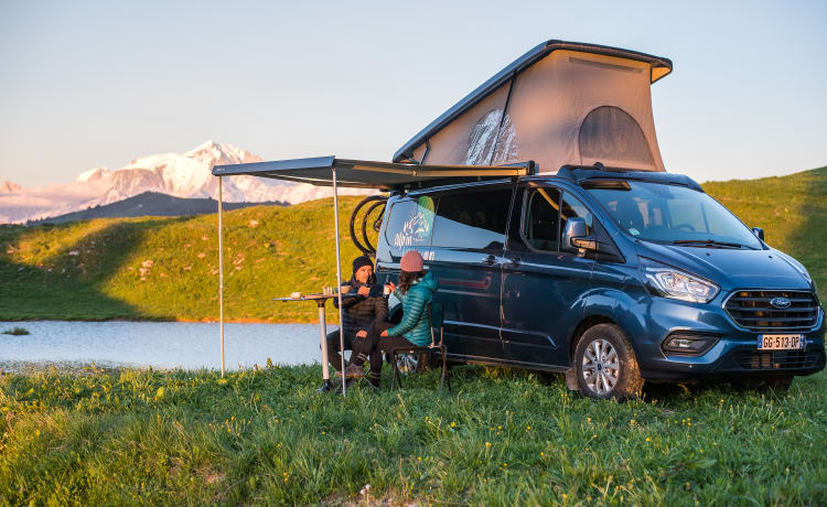
<path fill-rule="evenodd" d="M 827 168 L 705 187 L 824 298 Z M 333 283 L 331 215 L 227 214 L 230 319 L 313 319 L 269 299 Z M 216 268 L 215 216 L 2 227 L 0 320 L 214 319 Z M 397 391 L 386 370 L 346 398 L 315 392 L 319 366 L 31 368 L 0 374 L 0 505 L 827 505 L 825 371 L 786 393 L 672 385 L 616 403 L 468 366 L 443 397 L 436 371 Z"/>

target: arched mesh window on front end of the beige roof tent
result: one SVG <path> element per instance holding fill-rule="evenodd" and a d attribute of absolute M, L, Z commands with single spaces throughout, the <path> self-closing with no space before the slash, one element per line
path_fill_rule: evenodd
<path fill-rule="evenodd" d="M 580 158 L 654 165 L 641 126 L 619 107 L 593 109 L 580 126 Z"/>

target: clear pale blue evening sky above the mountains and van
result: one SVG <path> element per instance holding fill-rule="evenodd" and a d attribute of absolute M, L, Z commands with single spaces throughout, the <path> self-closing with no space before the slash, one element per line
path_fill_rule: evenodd
<path fill-rule="evenodd" d="M 0 182 L 214 140 L 266 160 L 393 153 L 548 39 L 666 56 L 667 171 L 827 165 L 827 2 L 0 0 Z"/>

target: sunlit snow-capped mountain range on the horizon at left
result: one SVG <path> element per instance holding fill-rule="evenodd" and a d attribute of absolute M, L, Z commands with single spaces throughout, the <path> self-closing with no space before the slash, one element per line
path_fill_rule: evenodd
<path fill-rule="evenodd" d="M 136 159 L 117 171 L 95 168 L 71 183 L 20 187 L 11 182 L 0 186 L 0 223 L 23 223 L 77 212 L 90 206 L 122 201 L 143 192 L 175 197 L 218 197 L 214 165 L 261 162 L 261 158 L 230 144 L 207 141 L 185 153 L 162 153 Z M 363 193 L 343 188 L 343 194 Z M 224 180 L 226 202 L 281 201 L 289 204 L 327 197 L 332 191 L 305 184 L 286 183 L 253 176 Z"/>

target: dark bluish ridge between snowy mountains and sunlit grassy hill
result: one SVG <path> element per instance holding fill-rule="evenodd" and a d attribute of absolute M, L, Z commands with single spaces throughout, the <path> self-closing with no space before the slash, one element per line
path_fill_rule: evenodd
<path fill-rule="evenodd" d="M 224 203 L 225 211 L 241 209 L 250 206 L 281 205 L 287 203 Z M 217 213 L 218 203 L 212 198 L 182 198 L 158 192 L 144 192 L 135 197 L 125 198 L 104 206 L 93 206 L 82 212 L 67 213 L 33 222 L 39 224 L 65 224 L 74 220 L 93 218 L 129 218 L 140 216 L 191 216 L 205 213 Z"/>

